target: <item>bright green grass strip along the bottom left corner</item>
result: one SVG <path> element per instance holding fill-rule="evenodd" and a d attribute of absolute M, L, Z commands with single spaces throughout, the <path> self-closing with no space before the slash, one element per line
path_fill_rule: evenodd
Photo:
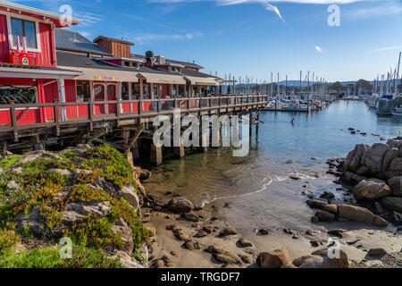
<path fill-rule="evenodd" d="M 58 248 L 9 252 L 0 259 L 0 268 L 122 268 L 119 259 L 105 257 L 102 251 L 83 247 L 72 248 L 72 257 L 63 259 Z"/>

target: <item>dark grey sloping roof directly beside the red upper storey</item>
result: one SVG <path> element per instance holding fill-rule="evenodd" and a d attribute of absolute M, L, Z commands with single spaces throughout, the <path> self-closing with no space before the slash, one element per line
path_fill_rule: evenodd
<path fill-rule="evenodd" d="M 70 29 L 54 29 L 57 50 L 111 56 L 109 52 Z"/>

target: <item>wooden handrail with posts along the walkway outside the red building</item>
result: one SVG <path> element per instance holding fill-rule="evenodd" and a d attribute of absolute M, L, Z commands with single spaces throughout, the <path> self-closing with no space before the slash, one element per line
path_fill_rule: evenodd
<path fill-rule="evenodd" d="M 190 113 L 201 113 L 205 111 L 218 110 L 219 112 L 227 112 L 229 108 L 234 108 L 238 110 L 247 109 L 251 107 L 264 107 L 268 103 L 267 95 L 229 95 L 220 97 L 176 97 L 176 98 L 155 98 L 155 99 L 131 99 L 131 100 L 111 100 L 111 101 L 90 101 L 90 102 L 66 102 L 59 103 L 54 100 L 53 103 L 40 103 L 40 104 L 15 104 L 11 101 L 7 105 L 0 105 L 0 109 L 10 109 L 11 123 L 7 125 L 0 125 L 0 132 L 10 132 L 13 131 L 14 141 L 18 141 L 18 131 L 19 130 L 30 130 L 38 128 L 55 128 L 56 135 L 60 135 L 60 127 L 66 125 L 76 125 L 88 123 L 90 130 L 93 128 L 94 122 L 110 122 L 114 120 L 125 120 L 125 119 L 140 119 L 140 118 L 150 118 L 158 114 L 173 114 L 173 108 L 180 107 L 183 103 L 184 106 L 180 109 L 187 114 Z M 256 98 L 256 99 L 255 99 Z M 187 104 L 186 104 L 187 102 Z M 144 104 L 146 103 L 157 103 L 156 110 L 145 110 Z M 161 104 L 169 103 L 166 109 Z M 172 104 L 170 104 L 172 103 Z M 191 105 L 190 105 L 191 103 Z M 115 105 L 115 110 L 110 114 L 96 114 L 94 106 L 105 105 L 110 106 Z M 122 112 L 122 106 L 130 105 L 130 112 Z M 132 107 L 137 105 L 137 110 L 132 112 Z M 74 117 L 73 119 L 63 119 L 63 113 L 65 109 L 63 107 L 68 106 L 86 106 L 87 113 L 84 117 Z M 53 110 L 51 118 L 54 122 L 41 122 L 41 123 L 27 123 L 19 124 L 16 118 L 17 108 L 39 108 L 47 107 Z M 50 110 L 50 109 L 49 109 Z M 42 110 L 40 110 L 42 113 Z M 60 118 L 59 118 L 59 115 Z M 46 114 L 41 114 L 45 116 Z M 65 116 L 65 114 L 64 114 Z M 45 118 L 49 120 L 50 118 Z"/>

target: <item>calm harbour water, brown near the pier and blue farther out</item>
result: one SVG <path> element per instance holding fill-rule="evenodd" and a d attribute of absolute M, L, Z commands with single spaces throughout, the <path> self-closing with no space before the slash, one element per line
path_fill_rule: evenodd
<path fill-rule="evenodd" d="M 328 158 L 347 156 L 358 143 L 381 142 L 372 133 L 396 137 L 402 130 L 402 119 L 378 117 L 357 101 L 337 101 L 314 114 L 263 112 L 260 119 L 264 124 L 260 124 L 258 143 L 253 130 L 249 156 L 236 158 L 230 150 L 221 148 L 171 160 L 153 170 L 154 176 L 146 188 L 161 193 L 172 190 L 198 205 L 219 198 L 249 200 L 255 195 L 255 201 L 248 201 L 248 206 L 255 204 L 258 208 L 259 201 L 266 200 L 266 206 L 274 199 L 280 188 L 278 182 L 285 184 L 289 175 L 296 174 L 305 181 L 316 176 L 331 178 L 325 173 Z M 367 136 L 352 135 L 348 128 L 366 132 Z M 289 160 L 294 163 L 287 164 Z M 287 205 L 296 199 L 293 195 L 294 192 L 289 196 L 286 191 L 281 192 L 283 198 L 278 204 Z M 281 206 L 276 207 L 282 214 Z"/>

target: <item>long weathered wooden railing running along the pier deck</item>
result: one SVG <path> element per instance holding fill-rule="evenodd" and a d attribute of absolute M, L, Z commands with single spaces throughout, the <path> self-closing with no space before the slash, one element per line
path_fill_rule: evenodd
<path fill-rule="evenodd" d="M 13 132 L 14 141 L 18 141 L 19 130 L 55 128 L 60 135 L 60 128 L 89 124 L 90 130 L 95 122 L 110 122 L 130 119 L 151 118 L 159 114 L 173 114 L 174 108 L 180 108 L 181 114 L 204 113 L 216 110 L 225 113 L 234 110 L 264 107 L 268 96 L 222 96 L 222 97 L 180 97 L 139 100 L 114 100 L 95 102 L 71 102 L 46 104 L 15 104 L 0 105 L 0 116 L 9 118 L 8 122 L 0 124 L 0 133 Z M 96 106 L 99 107 L 96 109 Z M 123 107 L 124 106 L 124 107 Z M 7 111 L 9 109 L 9 111 Z M 17 114 L 17 110 L 20 114 Z M 26 116 L 29 110 L 35 110 L 38 118 L 33 122 L 21 121 L 20 116 Z M 72 115 L 71 115 L 71 110 Z M 107 111 L 108 110 L 108 111 Z M 112 110 L 112 112 L 111 112 Z M 5 112 L 4 112 L 5 111 Z M 69 112 L 70 111 L 70 114 Z M 25 114 L 23 114 L 25 113 Z M 4 119 L 4 118 L 3 118 Z M 4 122 L 4 120 L 2 120 Z"/>

